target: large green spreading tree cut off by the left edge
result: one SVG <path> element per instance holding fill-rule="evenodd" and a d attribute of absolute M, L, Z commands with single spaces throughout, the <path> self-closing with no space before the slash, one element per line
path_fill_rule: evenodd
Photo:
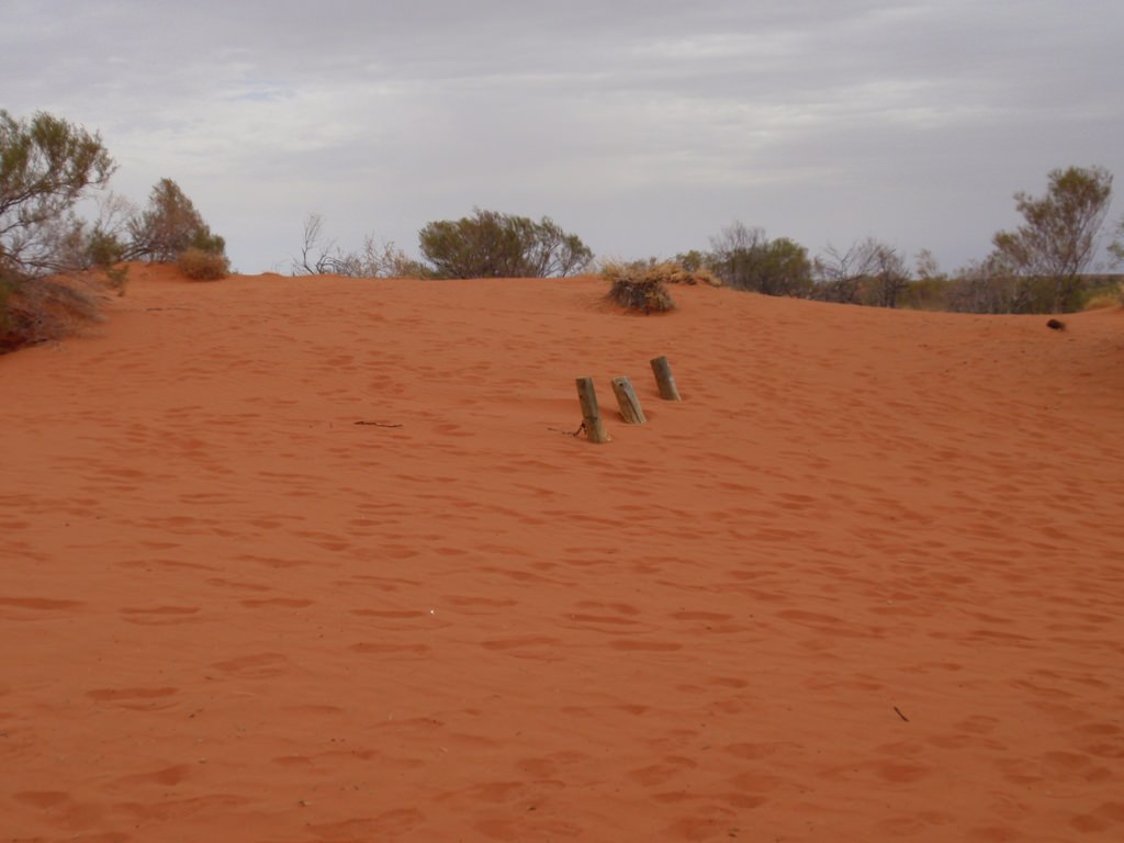
<path fill-rule="evenodd" d="M 11 279 L 72 269 L 73 208 L 115 167 L 97 133 L 0 109 L 0 270 Z"/>

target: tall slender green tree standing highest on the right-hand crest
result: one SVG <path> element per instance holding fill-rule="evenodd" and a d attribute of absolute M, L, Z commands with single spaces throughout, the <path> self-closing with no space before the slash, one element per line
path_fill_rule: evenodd
<path fill-rule="evenodd" d="M 1081 273 L 1097 251 L 1097 237 L 1112 200 L 1113 175 L 1102 166 L 1052 170 L 1045 196 L 1015 193 L 1025 223 L 1014 232 L 998 232 L 996 253 L 1021 278 L 1052 283 L 1050 309 L 1075 309 Z"/>

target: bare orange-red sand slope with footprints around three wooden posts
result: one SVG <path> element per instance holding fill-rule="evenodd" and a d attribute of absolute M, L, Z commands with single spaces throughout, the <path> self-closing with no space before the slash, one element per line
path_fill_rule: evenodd
<path fill-rule="evenodd" d="M 0 840 L 1124 840 L 1124 314 L 601 292 L 137 269 L 0 359 Z"/>

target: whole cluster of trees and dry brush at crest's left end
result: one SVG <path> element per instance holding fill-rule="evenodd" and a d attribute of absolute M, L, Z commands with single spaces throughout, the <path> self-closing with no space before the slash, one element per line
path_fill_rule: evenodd
<path fill-rule="evenodd" d="M 171 179 L 153 188 L 144 212 L 110 193 L 97 219 L 82 219 L 75 208 L 115 169 L 97 133 L 0 109 L 0 353 L 97 318 L 98 288 L 124 290 L 124 261 L 178 261 L 197 280 L 227 274 L 226 243 Z"/>

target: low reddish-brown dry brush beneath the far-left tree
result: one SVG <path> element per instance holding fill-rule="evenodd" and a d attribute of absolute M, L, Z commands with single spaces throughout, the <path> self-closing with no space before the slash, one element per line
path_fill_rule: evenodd
<path fill-rule="evenodd" d="M 100 301 L 79 281 L 0 279 L 0 354 L 61 339 L 101 318 Z"/>

